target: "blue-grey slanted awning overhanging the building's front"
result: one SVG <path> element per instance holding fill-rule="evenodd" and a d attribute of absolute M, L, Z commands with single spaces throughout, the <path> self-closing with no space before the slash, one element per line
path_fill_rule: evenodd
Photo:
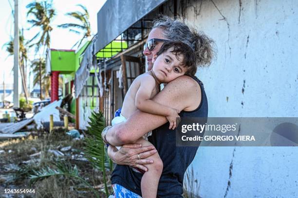
<path fill-rule="evenodd" d="M 95 53 L 167 0 L 107 0 L 97 13 Z"/>

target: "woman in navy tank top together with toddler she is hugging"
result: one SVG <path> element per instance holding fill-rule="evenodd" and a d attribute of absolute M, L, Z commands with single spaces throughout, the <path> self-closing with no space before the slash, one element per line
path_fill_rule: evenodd
<path fill-rule="evenodd" d="M 208 115 L 203 83 L 194 75 L 197 66 L 210 65 L 212 43 L 179 19 L 153 22 L 143 52 L 149 72 L 130 86 L 119 124 L 103 131 L 108 155 L 117 163 L 111 178 L 116 198 L 182 197 L 184 173 L 198 147 L 176 147 L 173 129 L 176 117 Z M 167 86 L 159 91 L 161 83 Z"/>

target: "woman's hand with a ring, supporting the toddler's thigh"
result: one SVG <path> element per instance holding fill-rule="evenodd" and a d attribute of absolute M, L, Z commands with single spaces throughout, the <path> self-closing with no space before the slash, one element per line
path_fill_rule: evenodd
<path fill-rule="evenodd" d="M 112 145 L 108 147 L 108 155 L 114 163 L 133 166 L 144 171 L 148 170 L 145 164 L 153 163 L 153 160 L 145 158 L 156 152 L 154 146 L 142 147 L 141 144 L 124 144 L 120 150 Z"/>

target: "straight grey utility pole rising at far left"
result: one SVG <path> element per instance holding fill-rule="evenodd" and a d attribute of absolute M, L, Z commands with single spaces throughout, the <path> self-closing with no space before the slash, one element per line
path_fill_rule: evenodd
<path fill-rule="evenodd" d="M 14 107 L 19 107 L 19 17 L 18 0 L 15 0 L 14 38 Z"/>

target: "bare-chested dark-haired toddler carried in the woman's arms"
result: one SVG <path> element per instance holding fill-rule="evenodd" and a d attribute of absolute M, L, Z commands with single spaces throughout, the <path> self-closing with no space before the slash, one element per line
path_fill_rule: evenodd
<path fill-rule="evenodd" d="M 191 47 L 182 42 L 165 42 L 160 51 L 153 56 L 151 71 L 139 75 L 131 84 L 125 95 L 121 114 L 112 120 L 112 125 L 126 121 L 137 109 L 167 117 L 169 128 L 176 127 L 179 110 L 161 105 L 151 100 L 159 91 L 161 83 L 168 83 L 179 76 L 190 74 L 196 70 L 195 54 Z M 152 145 L 148 141 L 151 132 L 145 134 L 135 143 L 142 146 Z M 146 165 L 146 171 L 141 180 L 143 198 L 156 198 L 157 186 L 163 170 L 163 162 L 158 153 L 150 156 L 152 164 Z"/>

